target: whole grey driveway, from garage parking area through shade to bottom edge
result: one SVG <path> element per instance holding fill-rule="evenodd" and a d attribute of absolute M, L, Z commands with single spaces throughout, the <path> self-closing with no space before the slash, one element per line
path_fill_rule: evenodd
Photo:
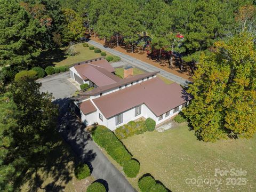
<path fill-rule="evenodd" d="M 90 134 L 85 131 L 84 124 L 68 110 L 68 97 L 77 89 L 67 78 L 69 73 L 62 73 L 37 81 L 42 83 L 41 91 L 52 92 L 55 97 L 54 102 L 59 105 L 58 127 L 62 137 L 83 162 L 92 166 L 93 177 L 105 185 L 107 191 L 136 191 L 94 143 Z"/>

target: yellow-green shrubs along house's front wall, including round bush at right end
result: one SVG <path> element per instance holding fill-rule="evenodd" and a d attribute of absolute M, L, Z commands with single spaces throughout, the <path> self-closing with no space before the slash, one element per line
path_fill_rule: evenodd
<path fill-rule="evenodd" d="M 154 131 L 156 127 L 156 122 L 147 118 L 146 121 L 130 121 L 129 123 L 117 127 L 115 130 L 115 135 L 118 139 L 125 139 L 127 137 L 131 137 L 134 134 L 142 134 L 146 131 Z"/>

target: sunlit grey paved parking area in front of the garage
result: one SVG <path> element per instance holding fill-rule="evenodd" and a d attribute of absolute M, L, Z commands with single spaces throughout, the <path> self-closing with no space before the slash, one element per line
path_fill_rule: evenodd
<path fill-rule="evenodd" d="M 53 93 L 55 99 L 68 98 L 77 90 L 77 88 L 68 81 L 69 72 L 55 74 L 38 79 L 42 83 L 40 91 Z"/>

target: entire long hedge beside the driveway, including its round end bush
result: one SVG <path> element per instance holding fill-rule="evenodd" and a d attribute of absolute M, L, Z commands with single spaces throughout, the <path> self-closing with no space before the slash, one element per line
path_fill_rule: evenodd
<path fill-rule="evenodd" d="M 139 162 L 132 159 L 132 155 L 111 130 L 99 125 L 92 131 L 92 138 L 100 147 L 105 148 L 117 163 L 123 166 L 127 177 L 136 177 L 140 170 Z"/>

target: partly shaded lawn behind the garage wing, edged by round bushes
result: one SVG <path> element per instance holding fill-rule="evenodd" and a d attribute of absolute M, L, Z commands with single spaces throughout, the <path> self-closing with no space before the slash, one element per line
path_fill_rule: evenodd
<path fill-rule="evenodd" d="M 66 48 L 55 49 L 51 51 L 42 51 L 41 55 L 39 56 L 39 64 L 43 67 L 45 66 L 70 66 L 73 63 L 79 61 L 90 60 L 94 58 L 101 57 L 100 53 L 94 53 L 93 50 L 89 50 L 89 47 L 83 47 L 81 43 L 75 44 L 75 52 L 76 55 L 68 56 L 65 53 Z M 107 55 L 111 55 L 110 53 L 106 52 Z"/>

